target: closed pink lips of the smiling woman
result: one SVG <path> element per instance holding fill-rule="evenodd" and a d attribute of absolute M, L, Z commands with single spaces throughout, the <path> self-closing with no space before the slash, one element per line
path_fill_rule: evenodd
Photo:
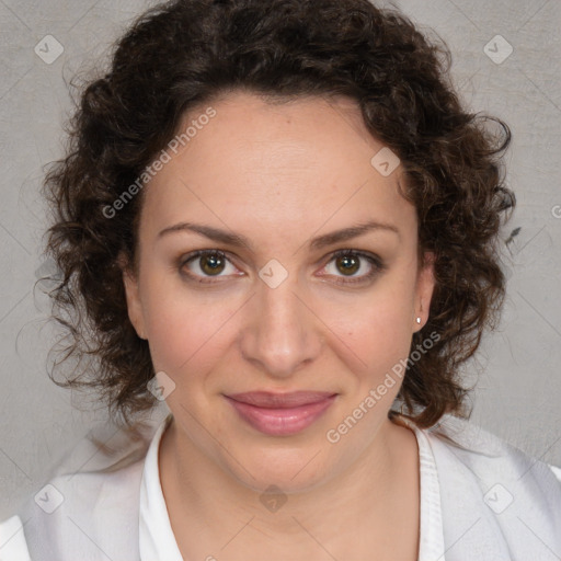
<path fill-rule="evenodd" d="M 226 396 L 240 416 L 257 431 L 288 436 L 310 426 L 333 403 L 336 393 L 250 391 Z"/>

